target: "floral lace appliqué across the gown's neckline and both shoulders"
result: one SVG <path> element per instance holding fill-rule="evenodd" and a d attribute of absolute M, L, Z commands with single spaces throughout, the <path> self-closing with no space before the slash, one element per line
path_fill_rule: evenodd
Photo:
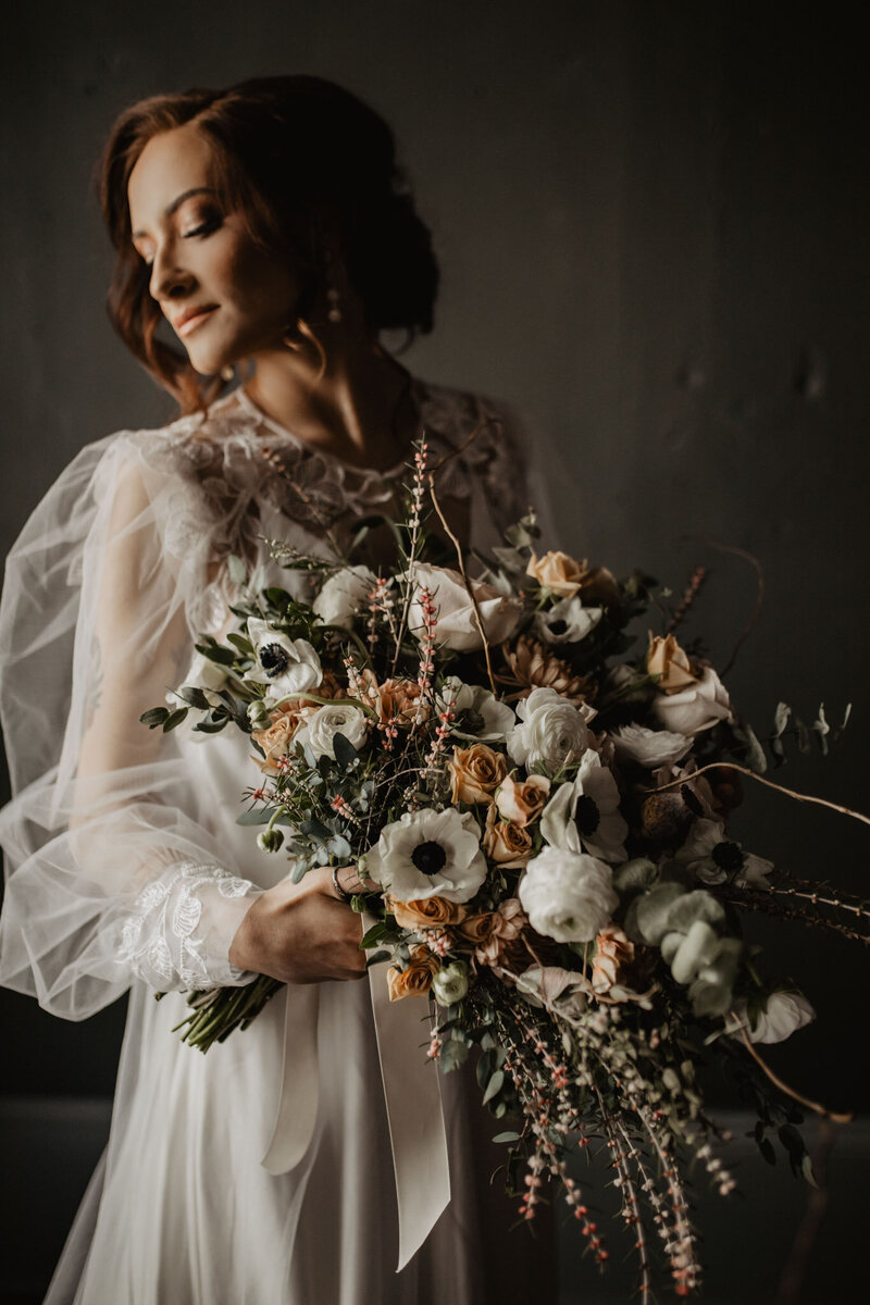
<path fill-rule="evenodd" d="M 417 380 L 412 394 L 429 441 L 429 465 L 441 463 L 441 496 L 463 501 L 476 491 L 480 510 L 501 534 L 528 506 L 526 457 L 513 418 L 489 399 Z M 243 390 L 213 403 L 207 415 L 125 436 L 146 466 L 177 476 L 163 543 L 180 565 L 200 568 L 200 581 L 190 586 L 194 609 L 188 613 L 196 630 L 214 632 L 232 602 L 226 576 L 231 553 L 256 565 L 262 536 L 287 538 L 288 523 L 300 545 L 310 548 L 340 523 L 395 506 L 410 475 L 404 459 L 374 471 L 312 448 L 267 418 Z"/>

